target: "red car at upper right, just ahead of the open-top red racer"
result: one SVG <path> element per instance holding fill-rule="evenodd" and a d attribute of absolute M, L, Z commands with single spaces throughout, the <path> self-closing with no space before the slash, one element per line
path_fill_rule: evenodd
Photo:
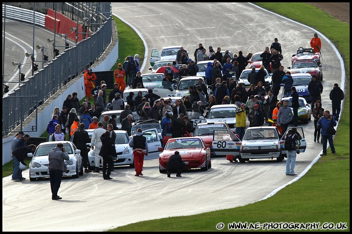
<path fill-rule="evenodd" d="M 290 69 L 291 74 L 294 73 L 309 73 L 311 76 L 315 76 L 318 80 L 323 80 L 323 71 L 321 69 L 322 65 L 317 64 L 314 59 L 297 60 L 293 62 L 292 68 Z"/>

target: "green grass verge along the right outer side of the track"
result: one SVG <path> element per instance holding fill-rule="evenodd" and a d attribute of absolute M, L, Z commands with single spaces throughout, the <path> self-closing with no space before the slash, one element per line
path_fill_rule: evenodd
<path fill-rule="evenodd" d="M 346 75 L 350 76 L 349 24 L 336 20 L 318 8 L 305 3 L 258 3 L 258 5 L 323 33 L 341 53 L 345 61 Z M 334 138 L 336 155 L 332 156 L 328 153 L 327 156 L 323 156 L 306 176 L 282 189 L 276 195 L 242 207 L 199 215 L 142 221 L 110 231 L 218 231 L 216 225 L 220 222 L 225 224 L 225 228 L 221 231 L 228 231 L 226 225 L 232 222 L 262 224 L 265 222 L 335 224 L 346 222 L 347 231 L 349 231 L 350 117 L 346 114 L 350 110 L 349 80 L 347 87 L 345 111 L 340 118 L 338 131 Z"/>

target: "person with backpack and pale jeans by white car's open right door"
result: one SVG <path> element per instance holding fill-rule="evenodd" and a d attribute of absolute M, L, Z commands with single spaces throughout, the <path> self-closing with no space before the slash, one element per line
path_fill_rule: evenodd
<path fill-rule="evenodd" d="M 297 132 L 297 128 L 293 127 L 288 130 L 285 137 L 285 149 L 287 151 L 286 160 L 286 176 L 297 176 L 294 172 L 294 167 L 296 163 L 296 150 L 297 150 L 297 140 L 301 140 L 301 135 Z M 299 151 L 298 151 L 299 152 Z"/>

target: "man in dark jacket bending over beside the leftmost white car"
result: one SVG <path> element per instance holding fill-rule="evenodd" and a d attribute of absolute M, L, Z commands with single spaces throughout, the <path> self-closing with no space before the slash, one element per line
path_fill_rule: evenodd
<path fill-rule="evenodd" d="M 24 163 L 24 158 L 27 156 L 28 153 L 34 153 L 36 148 L 37 146 L 35 145 L 22 146 L 12 152 L 12 159 L 14 161 L 12 179 L 11 179 L 12 181 L 20 181 L 25 179 L 22 176 L 22 171 L 20 170 L 20 162 L 24 166 L 27 166 Z"/>

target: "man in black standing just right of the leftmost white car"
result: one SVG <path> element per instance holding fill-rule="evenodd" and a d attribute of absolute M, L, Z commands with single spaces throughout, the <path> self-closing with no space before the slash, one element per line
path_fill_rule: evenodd
<path fill-rule="evenodd" d="M 80 123 L 79 129 L 73 133 L 73 141 L 72 143 L 77 147 L 77 149 L 81 150 L 82 163 L 85 168 L 85 173 L 90 173 L 91 171 L 88 169 L 88 149 L 87 143 L 90 143 L 89 135 L 86 130 L 84 130 L 85 124 Z"/>

